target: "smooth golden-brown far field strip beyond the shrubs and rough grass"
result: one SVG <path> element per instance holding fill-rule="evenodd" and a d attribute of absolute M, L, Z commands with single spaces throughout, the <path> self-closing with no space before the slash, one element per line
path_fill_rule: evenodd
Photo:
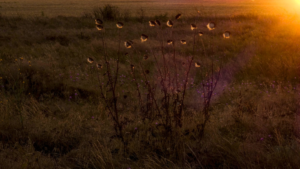
<path fill-rule="evenodd" d="M 92 11 L 95 7 L 101 7 L 107 3 L 113 3 L 121 10 L 130 10 L 133 13 L 143 8 L 147 16 L 164 13 L 196 15 L 198 11 L 200 14 L 226 16 L 253 12 L 258 14 L 298 13 L 300 4 L 298 0 L 6 0 L 0 2 L 0 8 L 1 14 L 10 16 L 40 16 L 41 11 L 44 11 L 48 17 L 58 15 L 78 17 L 83 12 Z"/>

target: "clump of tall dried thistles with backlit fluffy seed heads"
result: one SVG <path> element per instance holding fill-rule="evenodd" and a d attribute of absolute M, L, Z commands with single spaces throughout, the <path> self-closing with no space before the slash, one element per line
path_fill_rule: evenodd
<path fill-rule="evenodd" d="M 135 47 L 134 42 L 127 40 L 124 42 L 124 49 L 128 50 L 124 56 L 130 55 L 130 68 L 128 67 L 128 74 L 132 76 L 131 82 L 134 83 L 136 87 L 137 99 L 139 102 L 138 110 L 140 111 L 140 115 L 143 116 L 143 120 L 149 119 L 150 122 L 154 120 L 160 120 L 162 125 L 164 126 L 167 133 L 172 132 L 174 127 L 182 127 L 183 125 L 183 112 L 185 109 L 186 103 L 186 93 L 189 88 L 189 79 L 190 72 L 192 70 L 192 66 L 195 65 L 196 68 L 200 70 L 200 79 L 202 81 L 202 90 L 203 94 L 199 100 L 203 100 L 203 110 L 202 114 L 204 116 L 204 121 L 197 125 L 197 129 L 199 134 L 203 133 L 206 122 L 209 119 L 209 109 L 211 104 L 211 98 L 213 96 L 214 89 L 217 86 L 217 81 L 220 77 L 220 71 L 222 67 L 223 54 L 221 56 L 220 65 L 217 67 L 217 75 L 214 74 L 215 63 L 214 63 L 214 29 L 216 24 L 211 21 L 208 23 L 207 28 L 212 30 L 212 48 L 211 48 L 211 60 L 208 58 L 205 45 L 203 43 L 201 36 L 204 35 L 202 31 L 198 31 L 199 29 L 196 26 L 196 23 L 190 24 L 190 30 L 193 31 L 192 39 L 193 43 L 188 44 L 185 39 L 179 40 L 182 45 L 185 45 L 187 50 L 187 62 L 179 62 L 176 57 L 176 36 L 174 35 L 174 25 L 176 21 L 180 18 L 181 14 L 175 16 L 174 20 L 168 20 L 167 26 L 171 29 L 170 36 L 166 36 L 163 34 L 162 24 L 159 20 L 150 20 L 149 26 L 155 27 L 160 51 L 155 51 L 153 44 L 151 43 L 153 37 L 149 37 L 146 34 L 140 35 L 140 43 L 148 44 L 148 46 L 152 51 L 152 56 L 143 55 L 138 49 Z M 119 50 L 117 51 L 117 59 L 116 59 L 116 70 L 111 68 L 111 64 L 109 60 L 111 60 L 111 56 L 108 54 L 107 44 L 105 40 L 105 32 L 104 27 L 102 26 L 102 20 L 96 20 L 97 29 L 101 32 L 102 36 L 102 46 L 104 49 L 104 53 L 102 54 L 102 58 L 105 61 L 106 67 L 103 68 L 101 64 L 97 64 L 93 58 L 88 58 L 89 62 L 94 62 L 96 65 L 98 82 L 100 84 L 100 92 L 101 98 L 104 101 L 109 115 L 112 117 L 114 128 L 116 131 L 116 135 L 124 141 L 125 136 L 123 134 L 123 128 L 128 123 L 128 120 L 124 118 L 124 106 L 122 107 L 119 100 L 126 99 L 128 95 L 124 95 L 122 98 L 117 95 L 118 91 L 121 89 L 122 85 L 118 84 L 118 74 L 119 74 L 119 59 L 120 59 L 120 47 L 121 47 L 121 29 L 123 29 L 124 24 L 118 22 L 117 28 L 119 29 Z M 160 31 L 159 31 L 160 29 Z M 167 37 L 167 38 L 166 38 Z M 225 31 L 223 34 L 224 37 L 224 47 L 225 41 L 230 37 L 230 32 Z M 167 39 L 167 40 L 166 40 Z M 198 40 L 196 40 L 198 39 Z M 199 40 L 201 40 L 201 44 L 204 49 L 204 56 L 199 55 L 199 53 L 195 52 L 199 47 Z M 165 44 L 169 45 L 170 50 L 165 51 Z M 157 44 L 154 44 L 157 45 Z M 192 46 L 192 53 L 189 56 L 188 46 Z M 150 50 L 149 49 L 149 50 Z M 172 50 L 171 50 L 172 49 Z M 158 54 L 161 53 L 161 58 L 158 58 Z M 165 55 L 169 55 L 167 58 Z M 195 58 L 199 57 L 200 62 L 194 62 Z M 134 59 L 136 58 L 136 59 Z M 154 61 L 154 70 L 149 70 L 147 67 L 148 58 L 152 58 Z M 128 61 L 129 62 L 129 61 Z M 178 65 L 182 65 L 182 68 L 178 68 Z M 98 69 L 105 70 L 104 80 L 102 77 L 99 77 Z M 102 74 L 102 73 L 101 73 Z M 100 75 L 101 75 L 100 74 Z M 196 77 L 197 78 L 197 77 Z M 104 90 L 103 82 L 106 82 L 105 87 L 108 90 Z M 130 83 L 128 83 L 129 88 Z M 141 88 L 140 86 L 143 86 Z M 160 91 L 160 92 L 159 92 Z M 145 95 L 144 95 L 145 94 Z M 122 108 L 121 108 L 122 107 Z"/>

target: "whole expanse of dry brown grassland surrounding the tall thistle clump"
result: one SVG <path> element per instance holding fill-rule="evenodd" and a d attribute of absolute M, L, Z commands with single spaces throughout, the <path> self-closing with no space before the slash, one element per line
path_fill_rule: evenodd
<path fill-rule="evenodd" d="M 162 4 L 172 8 L 167 11 L 167 18 L 161 20 L 164 33 L 170 35 L 166 22 L 180 11 L 174 3 L 156 2 L 157 11 L 145 8 L 145 21 L 139 20 L 135 12 L 151 1 L 115 3 L 132 11 L 130 20 L 124 22 L 121 41 L 134 40 L 141 56 L 152 55 L 150 47 L 140 42 L 141 33 L 158 44 L 156 31 L 148 23 L 148 19 L 155 19 L 152 13 L 163 15 Z M 204 119 L 198 69 L 191 69 L 193 84 L 187 90 L 183 126 L 170 132 L 165 130 L 162 119 L 143 120 L 136 88 L 127 79 L 132 76 L 130 56 L 122 55 L 120 74 L 126 78 L 120 80 L 127 85 L 124 93 L 128 98 L 121 99 L 120 104 L 129 119 L 123 129 L 125 143 L 115 137 L 113 122 L 100 98 L 95 69 L 86 62 L 92 56 L 104 64 L 99 55 L 103 49 L 94 19 L 82 16 L 81 12 L 91 12 L 94 6 L 106 2 L 79 1 L 75 5 L 53 0 L 48 6 L 30 0 L 0 2 L 0 168 L 297 168 L 298 15 L 280 11 L 272 14 L 270 10 L 280 6 L 268 7 L 271 1 L 220 2 L 186 1 L 181 7 L 183 16 L 174 28 L 178 63 L 191 56 L 191 51 L 187 52 L 180 43 L 186 39 L 192 49 L 190 23 L 196 23 L 204 32 L 204 47 L 210 49 L 211 32 L 206 25 L 214 19 L 216 56 L 222 54 L 223 31 L 232 33 L 226 40 L 224 67 L 204 134 L 196 131 Z M 24 3 L 32 8 L 25 9 Z M 72 10 L 64 11 L 66 5 L 72 4 Z M 230 10 L 238 4 L 242 6 L 238 11 Z M 222 9 L 224 5 L 226 10 Z M 254 12 L 258 6 L 265 11 Z M 194 7 L 203 9 L 202 12 L 212 10 L 213 16 L 207 12 L 197 16 Z M 41 11 L 46 17 L 41 16 Z M 108 53 L 112 60 L 117 59 L 116 23 L 106 21 L 105 28 Z M 200 46 L 196 50 L 195 62 L 201 61 L 203 49 Z M 159 46 L 154 50 L 158 51 Z M 122 47 L 120 53 L 127 51 Z M 173 52 L 167 47 L 165 51 Z M 21 75 L 15 59 L 19 64 L 23 62 Z M 147 68 L 155 70 L 151 57 Z M 123 95 L 121 88 L 118 92 Z"/>

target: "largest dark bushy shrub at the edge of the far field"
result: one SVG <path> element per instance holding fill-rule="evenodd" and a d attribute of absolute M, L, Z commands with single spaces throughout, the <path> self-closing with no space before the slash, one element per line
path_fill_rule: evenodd
<path fill-rule="evenodd" d="M 120 18 L 120 9 L 117 6 L 106 4 L 103 7 L 98 7 L 93 10 L 95 18 L 114 21 Z"/>

